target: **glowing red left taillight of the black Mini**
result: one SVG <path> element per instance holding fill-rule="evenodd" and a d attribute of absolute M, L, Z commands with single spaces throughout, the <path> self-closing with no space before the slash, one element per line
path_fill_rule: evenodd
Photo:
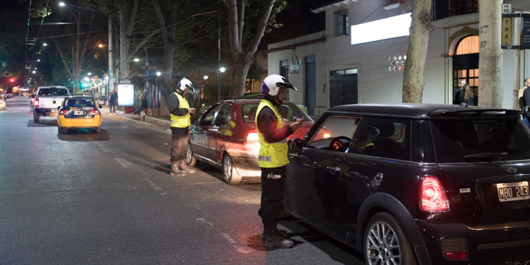
<path fill-rule="evenodd" d="M 442 184 L 437 177 L 426 176 L 421 179 L 420 205 L 423 211 L 440 212 L 449 208 Z"/>

